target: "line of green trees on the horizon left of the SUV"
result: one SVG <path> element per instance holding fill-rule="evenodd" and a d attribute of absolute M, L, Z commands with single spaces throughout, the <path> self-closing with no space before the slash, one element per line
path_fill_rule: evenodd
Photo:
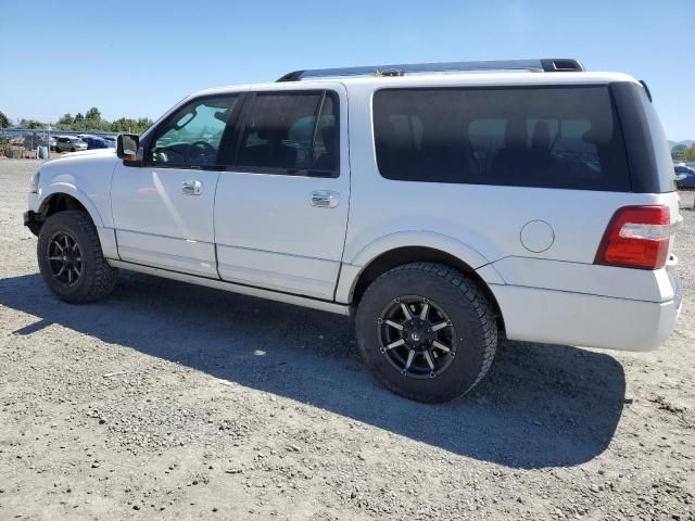
<path fill-rule="evenodd" d="M 48 128 L 47 123 L 37 122 L 36 119 L 20 119 L 16 122 L 17 127 L 28 128 L 30 130 L 41 130 Z M 152 119 L 149 117 L 140 117 L 132 119 L 129 117 L 122 117 L 114 122 L 108 122 L 101 117 L 101 112 L 96 106 L 89 109 L 85 114 L 78 112 L 74 116 L 72 114 L 64 114 L 55 125 L 51 128 L 56 130 L 74 130 L 74 131 L 102 131 L 102 132 L 134 132 L 142 134 L 152 125 Z M 12 122 L 8 116 L 0 112 L 0 128 L 11 128 Z"/>

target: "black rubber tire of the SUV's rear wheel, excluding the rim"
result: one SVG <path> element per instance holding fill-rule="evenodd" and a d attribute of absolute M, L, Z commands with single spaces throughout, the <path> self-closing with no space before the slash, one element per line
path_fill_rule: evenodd
<path fill-rule="evenodd" d="M 438 303 L 451 318 L 456 356 L 437 378 L 416 379 L 399 372 L 380 351 L 380 314 L 402 295 L 421 295 Z M 448 402 L 480 382 L 497 346 L 495 313 L 478 284 L 460 271 L 435 263 L 399 266 L 377 278 L 364 293 L 355 318 L 359 352 L 388 389 L 418 402 Z"/>

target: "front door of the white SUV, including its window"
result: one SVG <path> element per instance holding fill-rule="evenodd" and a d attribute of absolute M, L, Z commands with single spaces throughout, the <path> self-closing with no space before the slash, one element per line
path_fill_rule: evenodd
<path fill-rule="evenodd" d="M 118 164 L 111 198 L 122 260 L 217 278 L 213 207 L 237 100 L 182 104 L 143 143 L 141 162 Z"/>

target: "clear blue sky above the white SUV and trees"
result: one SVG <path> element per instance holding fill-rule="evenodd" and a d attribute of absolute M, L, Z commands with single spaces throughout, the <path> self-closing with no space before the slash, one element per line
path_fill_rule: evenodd
<path fill-rule="evenodd" d="M 156 118 L 191 91 L 296 68 L 578 58 L 645 79 L 668 137 L 695 139 L 695 0 L 28 4 L 3 2 L 0 17 L 12 118 Z"/>

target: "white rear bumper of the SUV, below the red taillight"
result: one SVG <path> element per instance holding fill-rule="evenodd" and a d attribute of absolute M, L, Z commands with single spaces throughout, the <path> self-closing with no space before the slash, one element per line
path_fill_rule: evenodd
<path fill-rule="evenodd" d="M 673 297 L 665 302 L 518 285 L 491 285 L 491 290 L 510 340 L 652 351 L 668 339 L 681 312 L 681 281 L 669 278 Z"/>

